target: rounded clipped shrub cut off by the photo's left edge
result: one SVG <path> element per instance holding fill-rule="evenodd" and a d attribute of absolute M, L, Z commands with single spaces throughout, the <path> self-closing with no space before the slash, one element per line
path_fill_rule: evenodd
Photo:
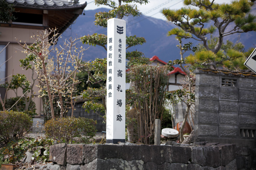
<path fill-rule="evenodd" d="M 6 144 L 22 138 L 32 125 L 31 118 L 23 112 L 0 111 L 0 137 Z"/>

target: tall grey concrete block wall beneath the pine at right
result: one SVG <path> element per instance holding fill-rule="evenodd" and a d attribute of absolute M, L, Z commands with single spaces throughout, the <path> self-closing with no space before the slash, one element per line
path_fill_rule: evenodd
<path fill-rule="evenodd" d="M 197 140 L 256 148 L 256 77 L 209 69 L 194 73 Z"/>

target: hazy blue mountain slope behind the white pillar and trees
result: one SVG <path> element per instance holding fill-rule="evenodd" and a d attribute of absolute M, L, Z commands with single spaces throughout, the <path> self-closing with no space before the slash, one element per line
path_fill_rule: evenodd
<path fill-rule="evenodd" d="M 86 10 L 86 8 L 85 8 Z M 76 21 L 71 25 L 70 29 L 67 29 L 62 38 L 71 37 L 81 37 L 84 35 L 91 35 L 93 33 L 103 33 L 107 34 L 107 29 L 102 27 L 96 27 L 94 24 L 95 13 L 99 11 L 107 11 L 107 8 L 98 8 L 96 10 L 87 10 L 85 11 L 85 15 L 80 15 Z M 252 11 L 255 12 L 256 9 Z M 148 58 L 153 57 L 154 55 L 158 56 L 161 60 L 168 62 L 169 60 L 176 60 L 180 58 L 179 49 L 176 47 L 178 41 L 175 40 L 175 36 L 166 36 L 167 32 L 176 26 L 169 22 L 166 22 L 162 19 L 156 19 L 152 17 L 146 17 L 141 15 L 140 17 L 125 17 L 126 20 L 126 33 L 127 36 L 137 35 L 144 37 L 146 39 L 146 43 L 143 45 L 138 45 L 132 48 L 127 49 L 128 51 L 142 51 L 144 55 Z M 231 26 L 229 26 L 231 29 Z M 235 42 L 238 39 L 239 34 L 233 34 L 225 37 L 224 40 L 231 40 Z M 198 44 L 198 41 L 190 39 L 185 42 L 193 42 Z M 61 43 L 62 40 L 59 40 Z M 256 44 L 256 33 L 242 33 L 240 35 L 240 42 L 245 45 L 245 49 L 250 47 L 255 47 Z M 82 43 L 81 43 L 82 44 Z M 83 45 L 85 48 L 90 47 L 85 52 L 86 61 L 94 60 L 95 58 L 104 58 L 107 53 L 105 49 L 99 46 L 89 46 Z M 188 55 L 189 53 L 187 53 Z"/>

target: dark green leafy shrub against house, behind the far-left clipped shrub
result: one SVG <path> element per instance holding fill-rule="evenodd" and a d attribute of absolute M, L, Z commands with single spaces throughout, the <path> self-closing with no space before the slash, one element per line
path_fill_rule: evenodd
<path fill-rule="evenodd" d="M 16 102 L 17 100 L 19 100 L 20 97 L 12 97 L 12 98 L 7 98 L 5 101 L 5 108 L 9 109 L 11 108 Z M 29 97 L 27 98 L 27 100 L 29 100 Z M 26 107 L 26 102 L 25 102 L 25 97 L 21 97 L 21 99 L 17 102 L 17 107 L 15 106 L 11 108 L 12 111 L 15 112 L 23 112 L 28 114 L 30 117 L 34 117 L 35 115 L 37 115 L 36 113 L 36 104 L 31 101 L 30 105 L 28 106 L 28 111 L 25 111 L 25 107 Z M 0 104 L 0 111 L 2 111 L 2 104 Z"/>

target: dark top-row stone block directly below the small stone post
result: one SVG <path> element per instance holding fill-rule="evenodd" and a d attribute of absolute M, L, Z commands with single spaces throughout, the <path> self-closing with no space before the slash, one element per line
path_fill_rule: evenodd
<path fill-rule="evenodd" d="M 140 157 L 145 163 L 155 162 L 156 164 L 164 163 L 164 150 L 171 146 L 158 145 L 140 145 Z"/>

